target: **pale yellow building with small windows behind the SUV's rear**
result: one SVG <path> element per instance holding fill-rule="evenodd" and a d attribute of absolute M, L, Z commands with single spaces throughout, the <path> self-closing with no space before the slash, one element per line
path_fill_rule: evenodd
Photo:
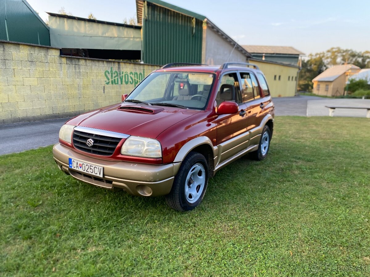
<path fill-rule="evenodd" d="M 249 59 L 265 74 L 272 97 L 294 96 L 297 89 L 299 66 L 262 59 Z"/>

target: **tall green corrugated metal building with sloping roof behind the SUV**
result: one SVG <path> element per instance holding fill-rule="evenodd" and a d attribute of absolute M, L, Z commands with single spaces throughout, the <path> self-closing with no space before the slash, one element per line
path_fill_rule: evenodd
<path fill-rule="evenodd" d="M 251 55 L 202 14 L 161 0 L 136 0 L 143 61 L 149 64 L 246 62 Z M 235 49 L 234 49 L 235 48 Z"/>

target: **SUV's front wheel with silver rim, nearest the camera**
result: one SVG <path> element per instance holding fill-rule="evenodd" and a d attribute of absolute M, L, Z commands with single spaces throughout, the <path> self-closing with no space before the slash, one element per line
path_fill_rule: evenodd
<path fill-rule="evenodd" d="M 171 192 L 165 196 L 167 204 L 180 212 L 198 206 L 208 184 L 208 163 L 202 154 L 190 152 L 175 175 Z"/>

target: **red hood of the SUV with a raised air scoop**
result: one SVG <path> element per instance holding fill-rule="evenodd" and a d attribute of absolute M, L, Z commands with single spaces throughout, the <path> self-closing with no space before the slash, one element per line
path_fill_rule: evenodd
<path fill-rule="evenodd" d="M 131 136 L 156 138 L 167 128 L 199 112 L 177 107 L 120 103 L 81 114 L 68 123 Z"/>

